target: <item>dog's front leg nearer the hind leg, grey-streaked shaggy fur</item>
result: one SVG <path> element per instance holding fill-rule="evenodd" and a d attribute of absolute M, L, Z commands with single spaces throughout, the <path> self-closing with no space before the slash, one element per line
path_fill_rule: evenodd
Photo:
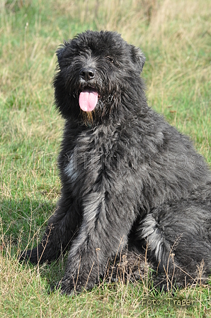
<path fill-rule="evenodd" d="M 72 243 L 64 278 L 59 285 L 62 292 L 71 294 L 74 290 L 91 289 L 105 273 L 108 258 L 120 253 L 127 244 L 134 221 L 132 204 L 125 206 L 115 195 L 89 194 L 79 235 Z"/>

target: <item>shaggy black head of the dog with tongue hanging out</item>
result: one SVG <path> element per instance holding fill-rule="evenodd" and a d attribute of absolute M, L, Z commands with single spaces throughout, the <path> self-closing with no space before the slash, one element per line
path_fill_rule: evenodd
<path fill-rule="evenodd" d="M 67 119 L 101 122 L 122 99 L 136 101 L 145 57 L 115 32 L 86 31 L 57 50 L 55 102 Z"/>

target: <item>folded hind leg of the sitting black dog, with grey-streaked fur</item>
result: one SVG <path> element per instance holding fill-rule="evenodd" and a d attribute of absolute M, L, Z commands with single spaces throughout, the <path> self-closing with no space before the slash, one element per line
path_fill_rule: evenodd
<path fill-rule="evenodd" d="M 200 265 L 205 274 L 211 270 L 210 200 L 186 199 L 154 209 L 142 221 L 139 237 L 147 240 L 149 259 L 167 283 L 180 287 L 193 282 Z"/>

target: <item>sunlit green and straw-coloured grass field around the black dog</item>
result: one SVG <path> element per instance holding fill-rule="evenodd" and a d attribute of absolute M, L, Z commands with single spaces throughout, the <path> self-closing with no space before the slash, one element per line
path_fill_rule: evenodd
<path fill-rule="evenodd" d="M 210 21 L 210 0 L 0 0 L 0 317 L 211 316 L 210 284 L 173 296 L 147 282 L 102 284 L 64 297 L 49 293 L 63 260 L 17 261 L 39 240 L 59 197 L 63 121 L 51 86 L 59 43 L 107 29 L 142 48 L 149 105 L 190 135 L 211 165 Z"/>

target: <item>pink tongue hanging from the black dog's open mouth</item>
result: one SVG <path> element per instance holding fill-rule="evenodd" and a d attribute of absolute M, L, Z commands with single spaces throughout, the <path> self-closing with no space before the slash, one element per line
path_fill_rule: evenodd
<path fill-rule="evenodd" d="M 85 89 L 79 95 L 79 106 L 81 107 L 82 111 L 93 111 L 96 104 L 98 102 L 98 92 Z"/>

